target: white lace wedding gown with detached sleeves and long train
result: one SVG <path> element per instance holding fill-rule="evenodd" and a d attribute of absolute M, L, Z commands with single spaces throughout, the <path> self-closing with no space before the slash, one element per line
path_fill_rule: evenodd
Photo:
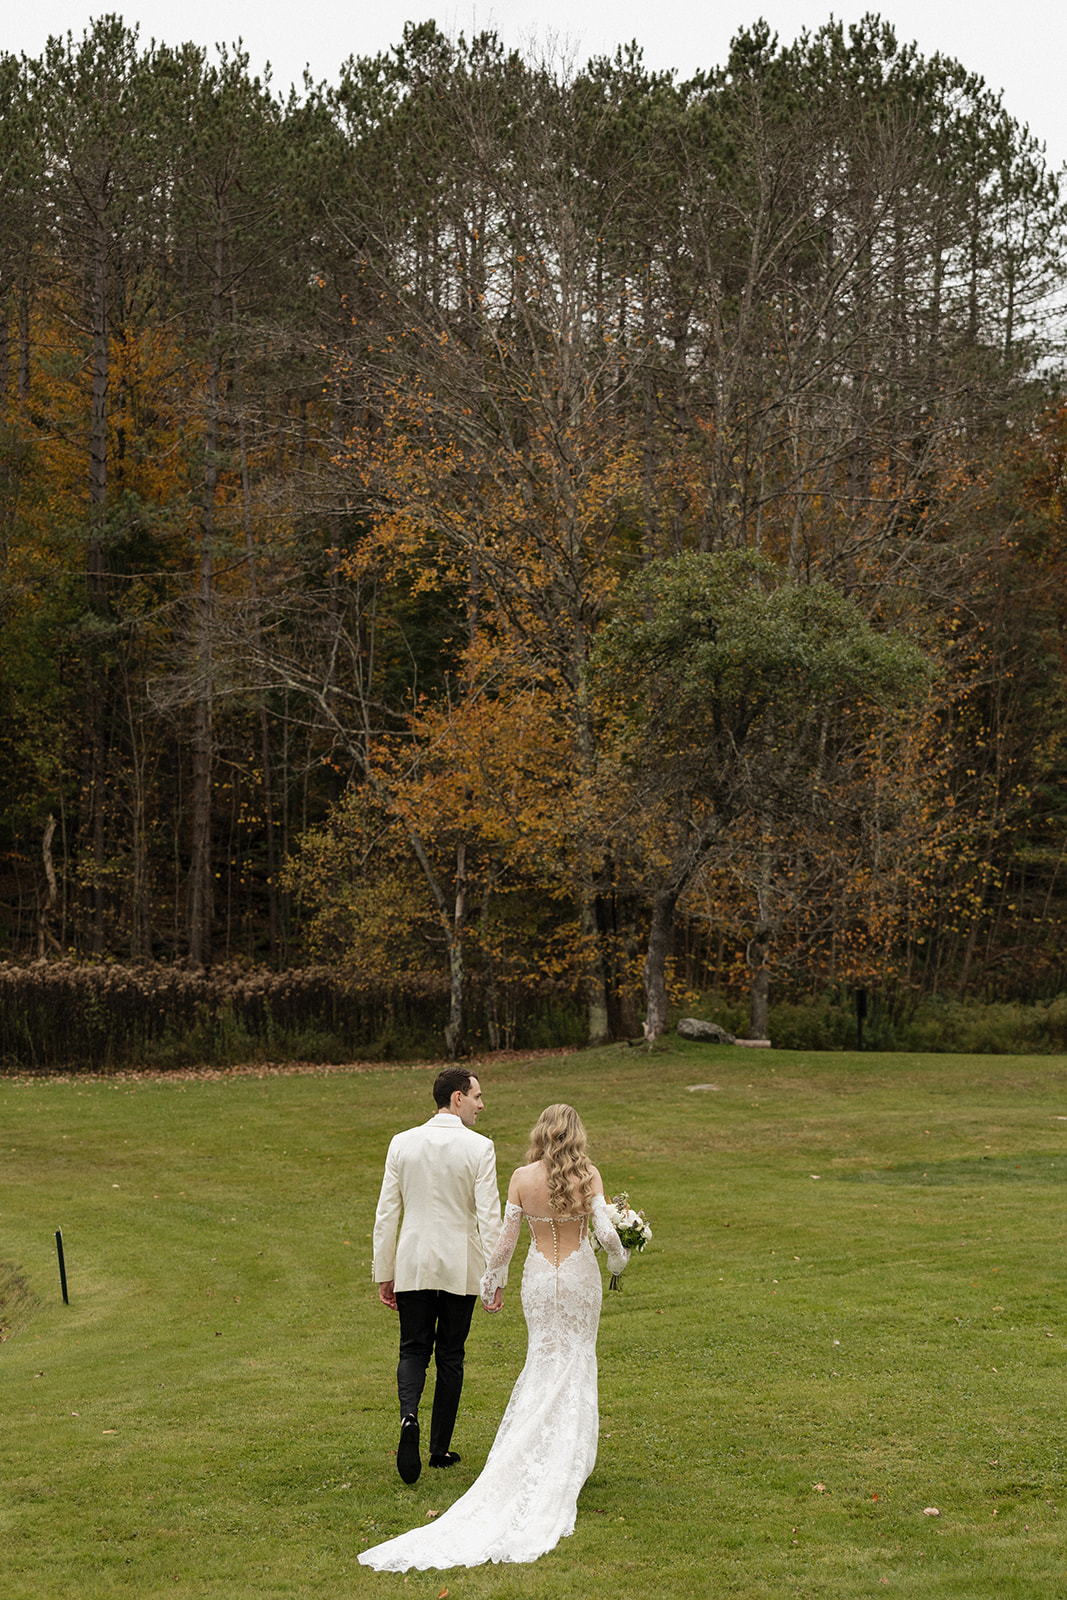
<path fill-rule="evenodd" d="M 509 1203 L 493 1259 L 482 1280 L 488 1304 L 518 1242 L 522 1206 Z M 480 1477 L 437 1522 L 363 1550 L 378 1571 L 480 1566 L 482 1562 L 536 1562 L 574 1531 L 577 1496 L 597 1461 L 597 1325 L 603 1286 L 589 1240 L 590 1218 L 530 1218 L 552 1227 L 577 1222 L 581 1243 L 558 1264 L 531 1237 L 523 1269 L 526 1317 L 523 1366 Z M 629 1251 L 593 1197 L 592 1224 L 621 1272 Z M 557 1243 L 558 1256 L 558 1243 Z"/>

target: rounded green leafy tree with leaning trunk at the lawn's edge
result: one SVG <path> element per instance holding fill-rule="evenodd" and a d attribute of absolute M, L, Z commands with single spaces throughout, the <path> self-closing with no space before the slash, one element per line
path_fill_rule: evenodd
<path fill-rule="evenodd" d="M 747 552 L 653 563 L 627 586 L 595 661 L 627 779 L 625 826 L 641 835 L 654 1040 L 667 1021 L 675 909 L 709 853 L 742 816 L 781 830 L 832 797 L 846 714 L 913 694 L 925 662 L 827 584 L 793 584 Z M 763 962 L 753 971 L 763 1038 Z"/>

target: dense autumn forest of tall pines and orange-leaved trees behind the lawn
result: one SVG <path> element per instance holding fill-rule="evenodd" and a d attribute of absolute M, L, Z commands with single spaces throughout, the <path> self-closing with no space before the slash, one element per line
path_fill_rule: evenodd
<path fill-rule="evenodd" d="M 878 18 L 0 56 L 6 952 L 1056 994 L 1065 221 Z"/>

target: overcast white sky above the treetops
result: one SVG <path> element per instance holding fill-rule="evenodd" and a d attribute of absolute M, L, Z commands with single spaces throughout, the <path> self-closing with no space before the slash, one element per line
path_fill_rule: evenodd
<path fill-rule="evenodd" d="M 37 54 L 50 34 L 80 35 L 104 11 L 139 24 L 142 40 L 200 45 L 245 42 L 253 69 L 269 61 L 274 86 L 299 83 L 304 66 L 334 82 L 350 54 L 374 54 L 400 40 L 405 21 L 435 18 L 450 34 L 493 27 L 507 45 L 555 38 L 577 61 L 614 54 L 635 38 L 649 67 L 683 77 L 718 66 L 737 29 L 765 16 L 782 42 L 814 30 L 830 14 L 843 22 L 877 11 L 923 54 L 955 56 L 1003 90 L 1008 110 L 1048 146 L 1051 165 L 1067 162 L 1067 5 L 1062 0 L 6 0 L 0 50 Z"/>

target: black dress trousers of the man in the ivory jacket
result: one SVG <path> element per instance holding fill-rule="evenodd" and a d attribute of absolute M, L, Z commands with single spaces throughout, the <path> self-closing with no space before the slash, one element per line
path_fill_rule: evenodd
<path fill-rule="evenodd" d="M 445 1290 L 402 1290 L 400 1362 L 397 1392 L 400 1416 L 419 1410 L 430 1355 L 437 1360 L 434 1411 L 430 1413 L 430 1454 L 443 1456 L 453 1442 L 453 1427 L 462 1392 L 462 1360 L 475 1294 L 448 1294 Z"/>

